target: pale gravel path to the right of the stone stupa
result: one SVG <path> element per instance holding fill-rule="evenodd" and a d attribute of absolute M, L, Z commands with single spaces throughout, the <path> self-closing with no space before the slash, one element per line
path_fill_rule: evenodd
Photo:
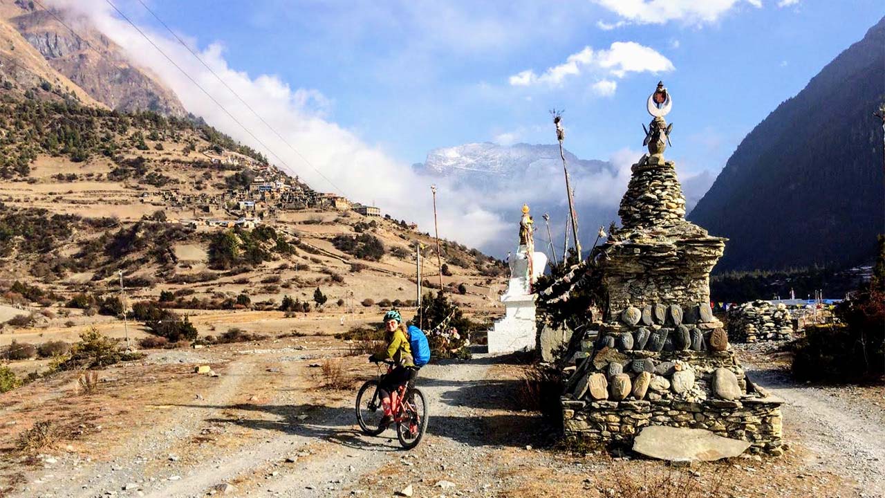
<path fill-rule="evenodd" d="M 792 381 L 782 370 L 744 363 L 750 378 L 786 401 L 785 439 L 816 454 L 814 466 L 858 483 L 859 496 L 885 496 L 885 410 L 846 395 L 850 387 L 819 387 Z"/>

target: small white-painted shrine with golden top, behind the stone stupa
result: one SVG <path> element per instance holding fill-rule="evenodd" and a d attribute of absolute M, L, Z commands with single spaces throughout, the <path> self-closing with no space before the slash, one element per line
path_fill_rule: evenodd
<path fill-rule="evenodd" d="M 507 258 L 510 283 L 501 296 L 506 314 L 489 331 L 489 353 L 512 353 L 535 349 L 535 298 L 532 286 L 543 275 L 547 255 L 535 253 L 534 222 L 528 206 L 522 206 L 519 221 L 519 247 Z"/>

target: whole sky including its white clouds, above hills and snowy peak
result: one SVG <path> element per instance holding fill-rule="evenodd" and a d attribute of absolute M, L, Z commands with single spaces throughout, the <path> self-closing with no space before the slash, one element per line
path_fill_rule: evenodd
<path fill-rule="evenodd" d="M 105 0 L 47 1 L 88 17 L 189 111 L 314 188 L 422 230 L 432 204 L 412 163 L 458 144 L 554 143 L 551 108 L 566 111 L 571 152 L 616 167 L 590 176 L 579 203 L 616 210 L 658 80 L 673 95 L 668 159 L 683 182 L 712 179 L 750 129 L 885 14 L 881 0 L 142 0 L 258 119 L 138 0 L 114 3 L 189 77 Z M 500 195 L 439 180 L 441 236 L 481 248 L 509 240 L 522 202 L 550 202 L 532 190 L 538 181 L 561 178 L 527 178 L 525 191 Z M 514 219 L 502 214 L 510 205 Z"/>

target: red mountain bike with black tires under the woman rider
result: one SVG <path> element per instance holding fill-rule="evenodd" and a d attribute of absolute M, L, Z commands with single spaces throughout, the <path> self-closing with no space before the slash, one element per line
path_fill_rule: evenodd
<path fill-rule="evenodd" d="M 394 363 L 385 361 L 387 373 L 393 370 Z M 377 363 L 376 363 L 377 364 Z M 357 393 L 357 423 L 360 430 L 370 436 L 377 436 L 387 427 L 381 427 L 384 409 L 381 408 L 381 365 L 378 365 L 378 377 L 367 380 Z M 418 446 L 424 433 L 427 432 L 427 400 L 424 393 L 414 386 L 410 380 L 396 390 L 396 403 L 391 407 L 393 422 L 396 424 L 396 439 L 405 449 Z"/>

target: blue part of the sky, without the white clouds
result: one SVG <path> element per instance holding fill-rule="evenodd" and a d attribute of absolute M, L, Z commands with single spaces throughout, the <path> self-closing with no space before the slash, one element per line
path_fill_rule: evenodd
<path fill-rule="evenodd" d="M 319 90 L 329 101 L 322 107 L 328 120 L 398 160 L 422 161 L 430 149 L 503 134 L 552 143 L 552 107 L 566 109 L 571 151 L 607 159 L 620 148 L 639 148 L 640 123 L 649 119 L 643 99 L 663 79 L 675 103 L 670 155 L 690 170 L 713 172 L 758 121 L 885 14 L 878 1 L 736 2 L 709 22 L 606 30 L 597 23 L 625 18 L 589 1 L 434 4 L 150 2 L 198 46 L 222 43 L 230 66 Z M 151 24 L 140 5 L 126 8 Z M 674 70 L 612 79 L 618 88 L 606 97 L 589 91 L 593 76 L 557 88 L 508 84 L 512 74 L 540 73 L 586 46 L 614 42 L 648 46 Z"/>

